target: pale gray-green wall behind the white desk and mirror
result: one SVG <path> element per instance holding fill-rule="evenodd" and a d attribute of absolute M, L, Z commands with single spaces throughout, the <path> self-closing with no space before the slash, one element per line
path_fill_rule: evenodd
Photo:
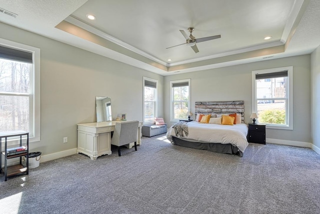
<path fill-rule="evenodd" d="M 142 121 L 142 77 L 158 80 L 163 115 L 163 77 L 0 23 L 2 39 L 41 51 L 41 140 L 30 151 L 42 155 L 77 147 L 77 123 L 95 122 L 95 96 L 111 97 L 112 117 L 126 113 Z M 63 137 L 68 142 L 63 143 Z"/>

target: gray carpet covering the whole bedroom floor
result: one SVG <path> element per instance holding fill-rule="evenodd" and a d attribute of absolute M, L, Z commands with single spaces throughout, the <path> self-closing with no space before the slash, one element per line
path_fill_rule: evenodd
<path fill-rule="evenodd" d="M 250 143 L 243 157 L 160 136 L 90 160 L 75 154 L 4 181 L 0 213 L 320 213 L 320 155 Z M 164 137 L 165 138 L 165 137 Z"/>

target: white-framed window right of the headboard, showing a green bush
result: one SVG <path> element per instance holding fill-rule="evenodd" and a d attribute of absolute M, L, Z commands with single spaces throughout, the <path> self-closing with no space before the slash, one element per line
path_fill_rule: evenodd
<path fill-rule="evenodd" d="M 292 67 L 252 71 L 252 112 L 267 128 L 293 129 Z"/>

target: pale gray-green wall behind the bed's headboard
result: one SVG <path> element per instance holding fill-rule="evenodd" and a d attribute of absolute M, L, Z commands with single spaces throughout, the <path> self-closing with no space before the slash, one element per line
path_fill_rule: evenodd
<path fill-rule="evenodd" d="M 310 55 L 267 60 L 164 77 L 165 121 L 170 117 L 169 82 L 191 79 L 191 111 L 196 101 L 244 101 L 244 121 L 251 122 L 251 71 L 293 66 L 293 130 L 267 129 L 266 138 L 311 142 Z"/>

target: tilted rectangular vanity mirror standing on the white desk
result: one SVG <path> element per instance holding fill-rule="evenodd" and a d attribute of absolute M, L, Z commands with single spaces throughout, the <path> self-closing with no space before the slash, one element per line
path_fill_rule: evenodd
<path fill-rule="evenodd" d="M 111 98 L 95 96 L 96 122 L 111 121 Z"/>

